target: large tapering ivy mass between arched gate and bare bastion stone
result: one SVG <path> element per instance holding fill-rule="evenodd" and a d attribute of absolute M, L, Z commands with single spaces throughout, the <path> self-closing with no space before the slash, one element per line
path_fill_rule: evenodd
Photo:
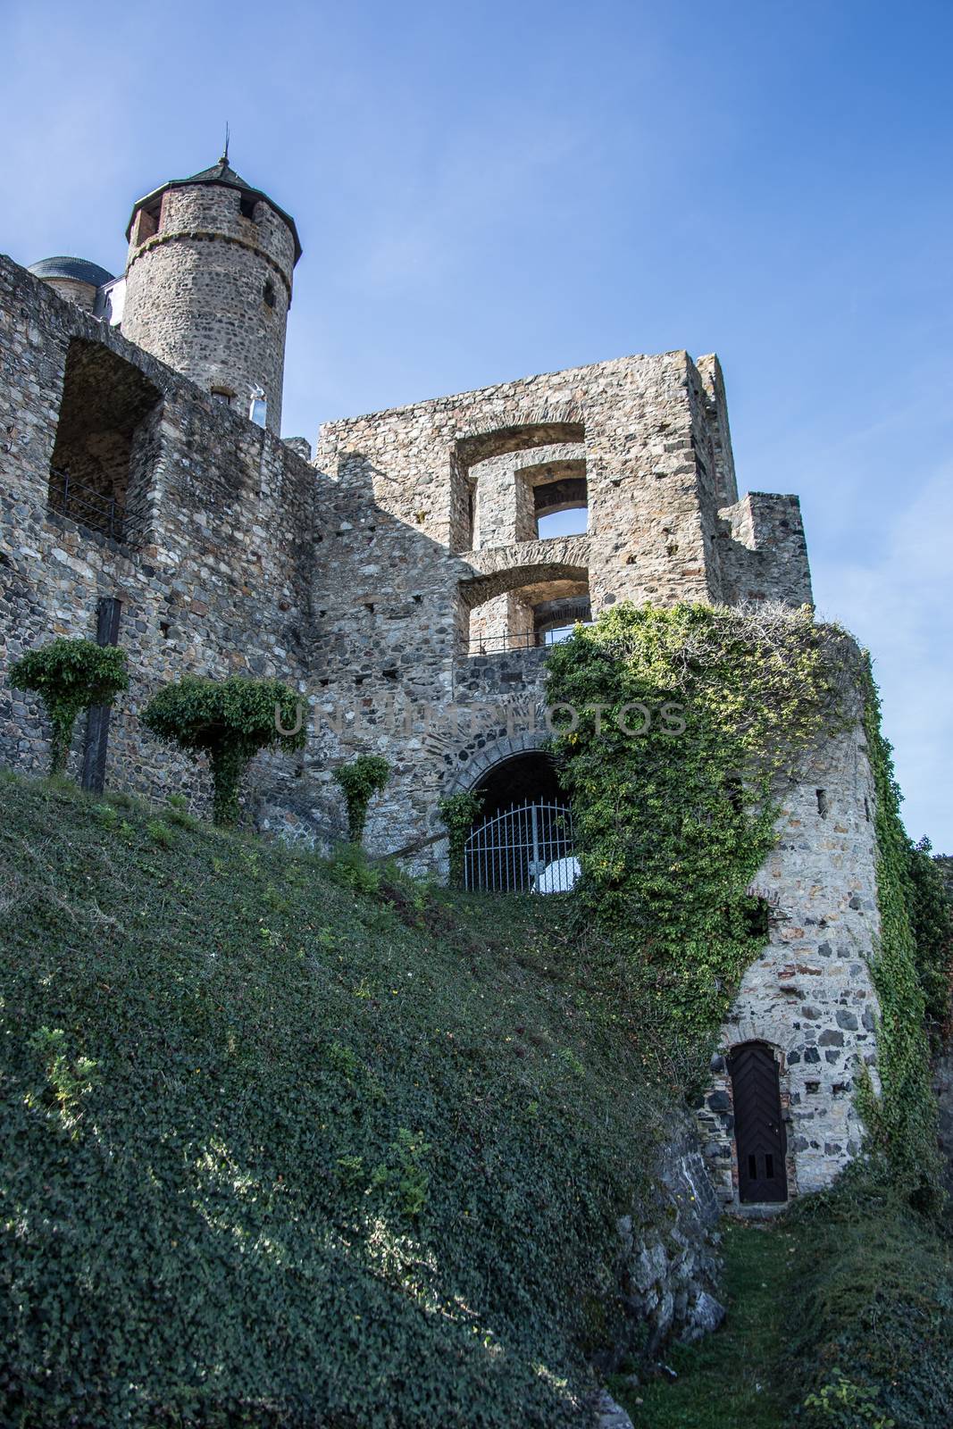
<path fill-rule="evenodd" d="M 547 697 L 573 800 L 579 902 L 619 949 L 687 1080 L 767 940 L 752 880 L 777 780 L 843 727 L 856 646 L 810 610 L 616 606 L 556 646 Z M 856 704 L 856 696 L 854 696 Z M 554 714 L 554 720 L 559 716 Z"/>

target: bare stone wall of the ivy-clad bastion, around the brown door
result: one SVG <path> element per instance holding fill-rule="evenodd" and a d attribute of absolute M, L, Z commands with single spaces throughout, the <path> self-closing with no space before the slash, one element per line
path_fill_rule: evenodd
<path fill-rule="evenodd" d="M 873 780 L 862 733 L 814 752 L 780 793 L 779 842 L 754 880 L 770 942 L 742 980 L 699 1123 L 719 1198 L 737 1206 L 727 1052 L 766 1042 L 780 1069 L 789 1195 L 830 1183 L 860 1146 L 857 1067 L 874 1087 L 877 999 L 869 957 L 880 920 Z"/>

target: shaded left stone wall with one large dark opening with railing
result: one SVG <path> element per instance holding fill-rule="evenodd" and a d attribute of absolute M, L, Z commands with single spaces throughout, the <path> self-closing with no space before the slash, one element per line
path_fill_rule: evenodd
<path fill-rule="evenodd" d="M 161 394 L 134 547 L 49 507 L 74 340 L 104 344 Z M 107 780 L 151 796 L 191 790 L 190 763 L 140 730 L 139 710 L 159 683 L 187 672 L 303 673 L 313 469 L 9 260 L 0 260 L 0 666 L 54 634 L 94 637 L 99 600 L 119 597 L 131 689 L 113 714 Z M 74 762 L 81 737 L 79 720 Z M 47 747 L 37 700 L 4 679 L 0 756 L 40 770 Z M 294 783 L 290 760 L 271 766 L 256 767 L 261 785 Z M 201 812 L 206 796 L 200 785 Z"/>

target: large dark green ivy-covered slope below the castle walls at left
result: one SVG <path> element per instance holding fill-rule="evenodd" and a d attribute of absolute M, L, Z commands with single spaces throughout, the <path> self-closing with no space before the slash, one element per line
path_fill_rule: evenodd
<path fill-rule="evenodd" d="M 0 793 L 0 1422 L 583 1422 L 666 1099 L 562 910 Z"/>

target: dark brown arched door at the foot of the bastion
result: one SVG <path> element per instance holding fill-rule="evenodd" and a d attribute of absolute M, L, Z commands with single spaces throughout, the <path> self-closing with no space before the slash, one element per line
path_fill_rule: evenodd
<path fill-rule="evenodd" d="M 744 1203 L 787 1200 L 784 1123 L 774 1053 L 763 1042 L 746 1042 L 733 1049 L 729 1072 L 739 1199 Z"/>

